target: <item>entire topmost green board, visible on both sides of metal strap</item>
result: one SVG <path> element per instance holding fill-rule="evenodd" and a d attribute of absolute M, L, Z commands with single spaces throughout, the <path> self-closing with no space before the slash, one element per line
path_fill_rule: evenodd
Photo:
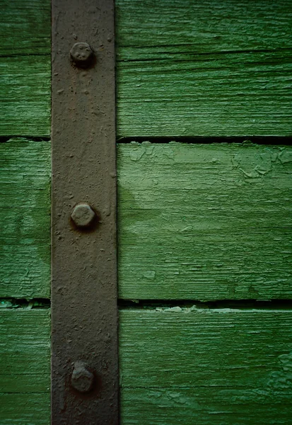
<path fill-rule="evenodd" d="M 49 1 L 2 6 L 0 134 L 49 135 Z M 116 10 L 120 137 L 291 135 L 288 0 Z"/>

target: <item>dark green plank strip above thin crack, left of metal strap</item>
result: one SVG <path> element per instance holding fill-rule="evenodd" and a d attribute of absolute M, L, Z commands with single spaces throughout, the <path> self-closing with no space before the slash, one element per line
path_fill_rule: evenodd
<path fill-rule="evenodd" d="M 50 3 L 50 0 L 0 0 L 1 57 L 49 55 Z"/>

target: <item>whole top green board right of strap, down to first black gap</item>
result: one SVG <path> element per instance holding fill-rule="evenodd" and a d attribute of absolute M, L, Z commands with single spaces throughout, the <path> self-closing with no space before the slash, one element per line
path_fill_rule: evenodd
<path fill-rule="evenodd" d="M 291 1 L 117 0 L 117 131 L 291 135 Z"/>

